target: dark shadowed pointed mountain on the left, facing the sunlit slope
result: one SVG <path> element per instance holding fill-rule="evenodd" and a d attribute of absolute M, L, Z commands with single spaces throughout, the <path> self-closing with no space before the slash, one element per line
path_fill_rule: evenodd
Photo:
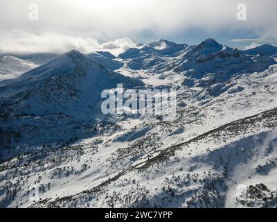
<path fill-rule="evenodd" d="M 111 71 L 78 51 L 0 82 L 1 130 L 5 132 L 1 159 L 32 146 L 96 133 L 93 127 L 99 124 L 100 94 L 119 83 L 132 89 L 143 86 L 141 80 Z"/>

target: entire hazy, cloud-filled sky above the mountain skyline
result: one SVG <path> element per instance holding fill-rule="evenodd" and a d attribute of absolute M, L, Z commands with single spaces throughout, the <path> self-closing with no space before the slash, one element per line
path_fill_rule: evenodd
<path fill-rule="evenodd" d="M 32 3 L 38 21 L 29 19 Z M 236 17 L 239 3 L 247 21 Z M 277 44 L 276 8 L 276 0 L 1 0 L 0 53 L 120 51 L 133 42 L 207 37 L 236 47 Z"/>

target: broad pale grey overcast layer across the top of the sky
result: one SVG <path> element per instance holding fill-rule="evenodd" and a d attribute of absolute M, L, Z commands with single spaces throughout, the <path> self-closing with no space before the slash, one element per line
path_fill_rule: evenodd
<path fill-rule="evenodd" d="M 39 22 L 30 22 L 28 6 L 37 3 Z M 55 29 L 94 33 L 96 37 L 151 30 L 167 33 L 201 27 L 263 28 L 276 25 L 276 0 L 244 0 L 247 22 L 236 19 L 238 0 L 1 0 L 1 29 Z M 274 7 L 275 6 L 275 7 Z M 4 21 L 4 22 L 3 22 Z"/>

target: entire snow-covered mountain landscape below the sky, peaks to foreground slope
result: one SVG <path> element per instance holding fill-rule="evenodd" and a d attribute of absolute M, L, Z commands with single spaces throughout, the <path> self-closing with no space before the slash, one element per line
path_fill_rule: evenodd
<path fill-rule="evenodd" d="M 177 90 L 176 117 L 105 116 L 118 83 Z M 276 60 L 213 39 L 70 51 L 0 82 L 0 206 L 276 207 L 276 102 Z"/>

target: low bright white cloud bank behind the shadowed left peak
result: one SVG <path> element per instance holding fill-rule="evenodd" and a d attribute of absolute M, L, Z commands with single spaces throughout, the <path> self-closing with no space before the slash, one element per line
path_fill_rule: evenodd
<path fill-rule="evenodd" d="M 0 32 L 1 53 L 64 53 L 76 49 L 82 53 L 110 51 L 115 55 L 123 53 L 136 44 L 127 38 L 99 44 L 91 37 L 73 37 L 57 33 L 35 35 L 25 31 Z"/>

